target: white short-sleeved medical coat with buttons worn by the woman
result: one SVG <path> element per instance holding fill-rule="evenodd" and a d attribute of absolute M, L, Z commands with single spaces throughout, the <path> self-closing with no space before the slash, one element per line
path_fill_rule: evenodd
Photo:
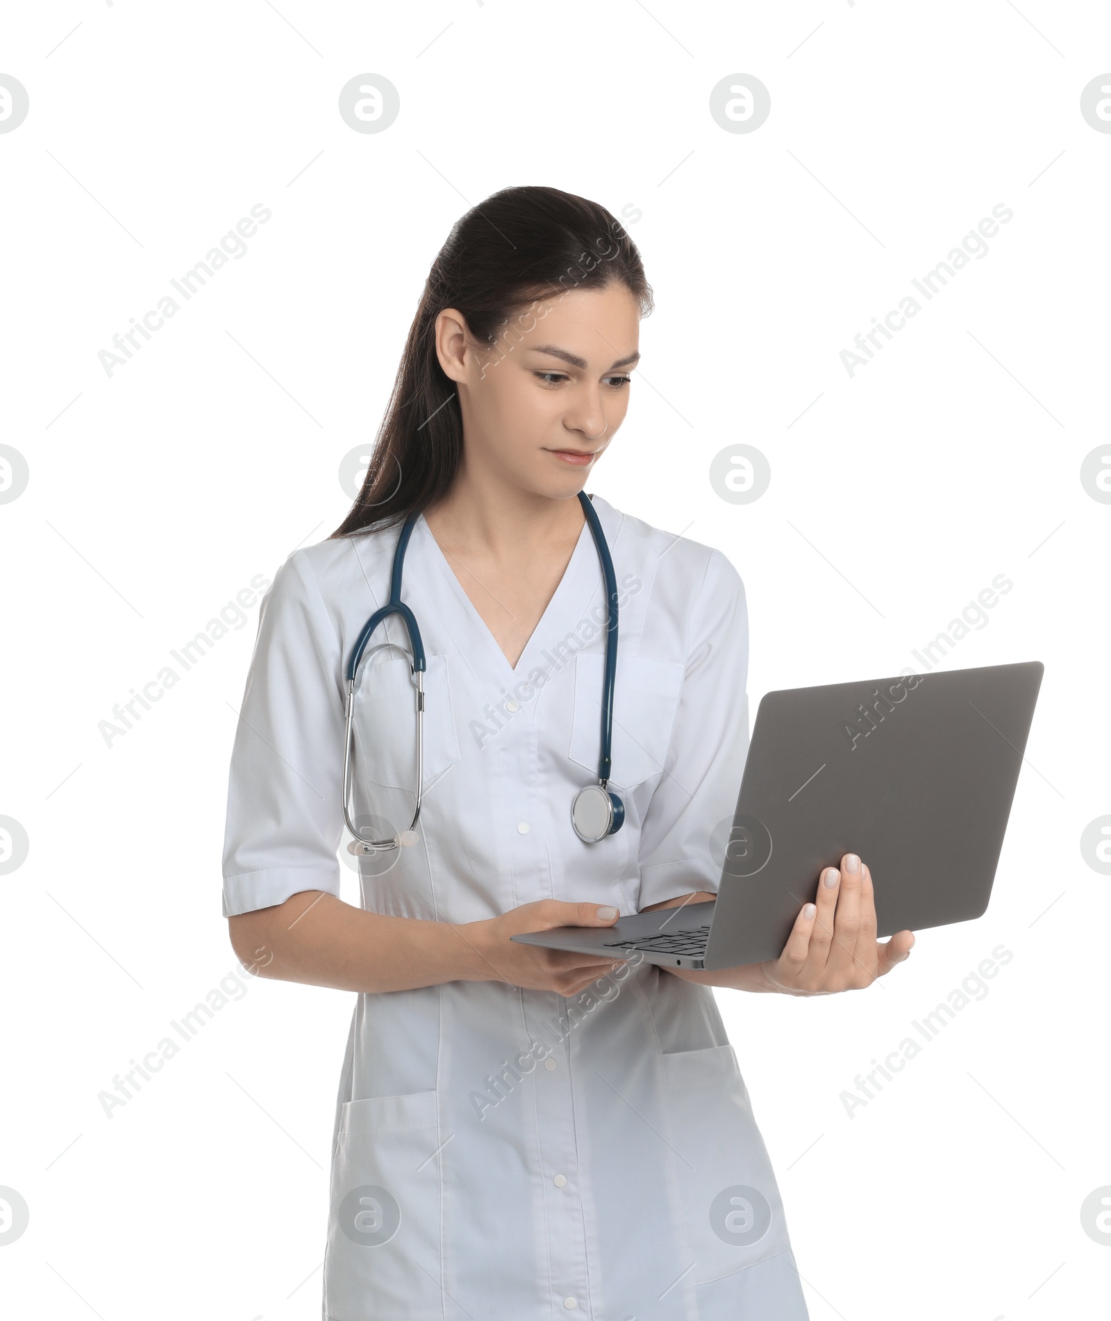
<path fill-rule="evenodd" d="M 748 750 L 748 620 L 717 551 L 596 498 L 621 597 L 612 787 L 597 778 L 605 592 L 584 526 L 517 667 L 424 519 L 402 600 L 425 675 L 419 843 L 361 861 L 362 905 L 453 923 L 532 900 L 622 914 L 716 892 Z M 262 604 L 229 786 L 225 915 L 340 893 L 345 663 L 398 527 L 295 551 Z M 391 620 L 388 637 L 407 645 Z M 355 822 L 404 830 L 406 659 L 363 662 Z M 716 848 L 711 836 L 717 836 Z M 572 999 L 501 982 L 362 993 L 337 1103 L 326 1321 L 805 1321 L 783 1206 L 708 987 L 651 964 Z"/>

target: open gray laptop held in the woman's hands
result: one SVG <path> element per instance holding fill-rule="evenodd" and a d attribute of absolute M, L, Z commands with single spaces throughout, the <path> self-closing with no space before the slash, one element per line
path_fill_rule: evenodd
<path fill-rule="evenodd" d="M 732 828 L 716 841 L 715 901 L 513 939 L 683 968 L 761 963 L 779 956 L 822 868 L 847 852 L 872 873 L 880 938 L 980 917 L 1042 670 L 1028 660 L 766 694 Z"/>

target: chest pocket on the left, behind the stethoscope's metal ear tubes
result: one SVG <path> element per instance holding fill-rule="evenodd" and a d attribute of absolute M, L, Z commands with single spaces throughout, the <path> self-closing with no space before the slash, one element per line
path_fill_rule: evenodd
<path fill-rule="evenodd" d="M 424 672 L 424 787 L 460 760 L 448 658 L 427 657 Z M 369 657 L 355 687 L 357 782 L 416 790 L 416 686 L 408 660 L 396 651 Z M 403 826 L 399 828 L 404 828 Z"/>

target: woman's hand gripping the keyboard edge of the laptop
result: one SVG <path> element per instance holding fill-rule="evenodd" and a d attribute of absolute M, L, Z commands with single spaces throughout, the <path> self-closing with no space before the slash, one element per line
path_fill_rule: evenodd
<path fill-rule="evenodd" d="M 609 955 L 575 954 L 571 950 L 546 950 L 539 945 L 520 945 L 511 935 L 526 931 L 550 931 L 556 926 L 613 926 L 617 909 L 609 904 L 564 904 L 539 900 L 522 904 L 501 917 L 466 922 L 454 930 L 472 947 L 476 982 L 507 982 L 526 991 L 555 991 L 573 996 L 592 982 L 620 968 L 624 959 Z"/>

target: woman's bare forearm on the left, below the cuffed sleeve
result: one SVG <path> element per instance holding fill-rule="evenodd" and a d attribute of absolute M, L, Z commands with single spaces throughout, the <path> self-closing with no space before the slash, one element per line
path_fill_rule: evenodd
<path fill-rule="evenodd" d="M 259 976 L 369 992 L 497 978 L 478 925 L 386 917 L 321 890 L 229 918 L 239 962 Z"/>

